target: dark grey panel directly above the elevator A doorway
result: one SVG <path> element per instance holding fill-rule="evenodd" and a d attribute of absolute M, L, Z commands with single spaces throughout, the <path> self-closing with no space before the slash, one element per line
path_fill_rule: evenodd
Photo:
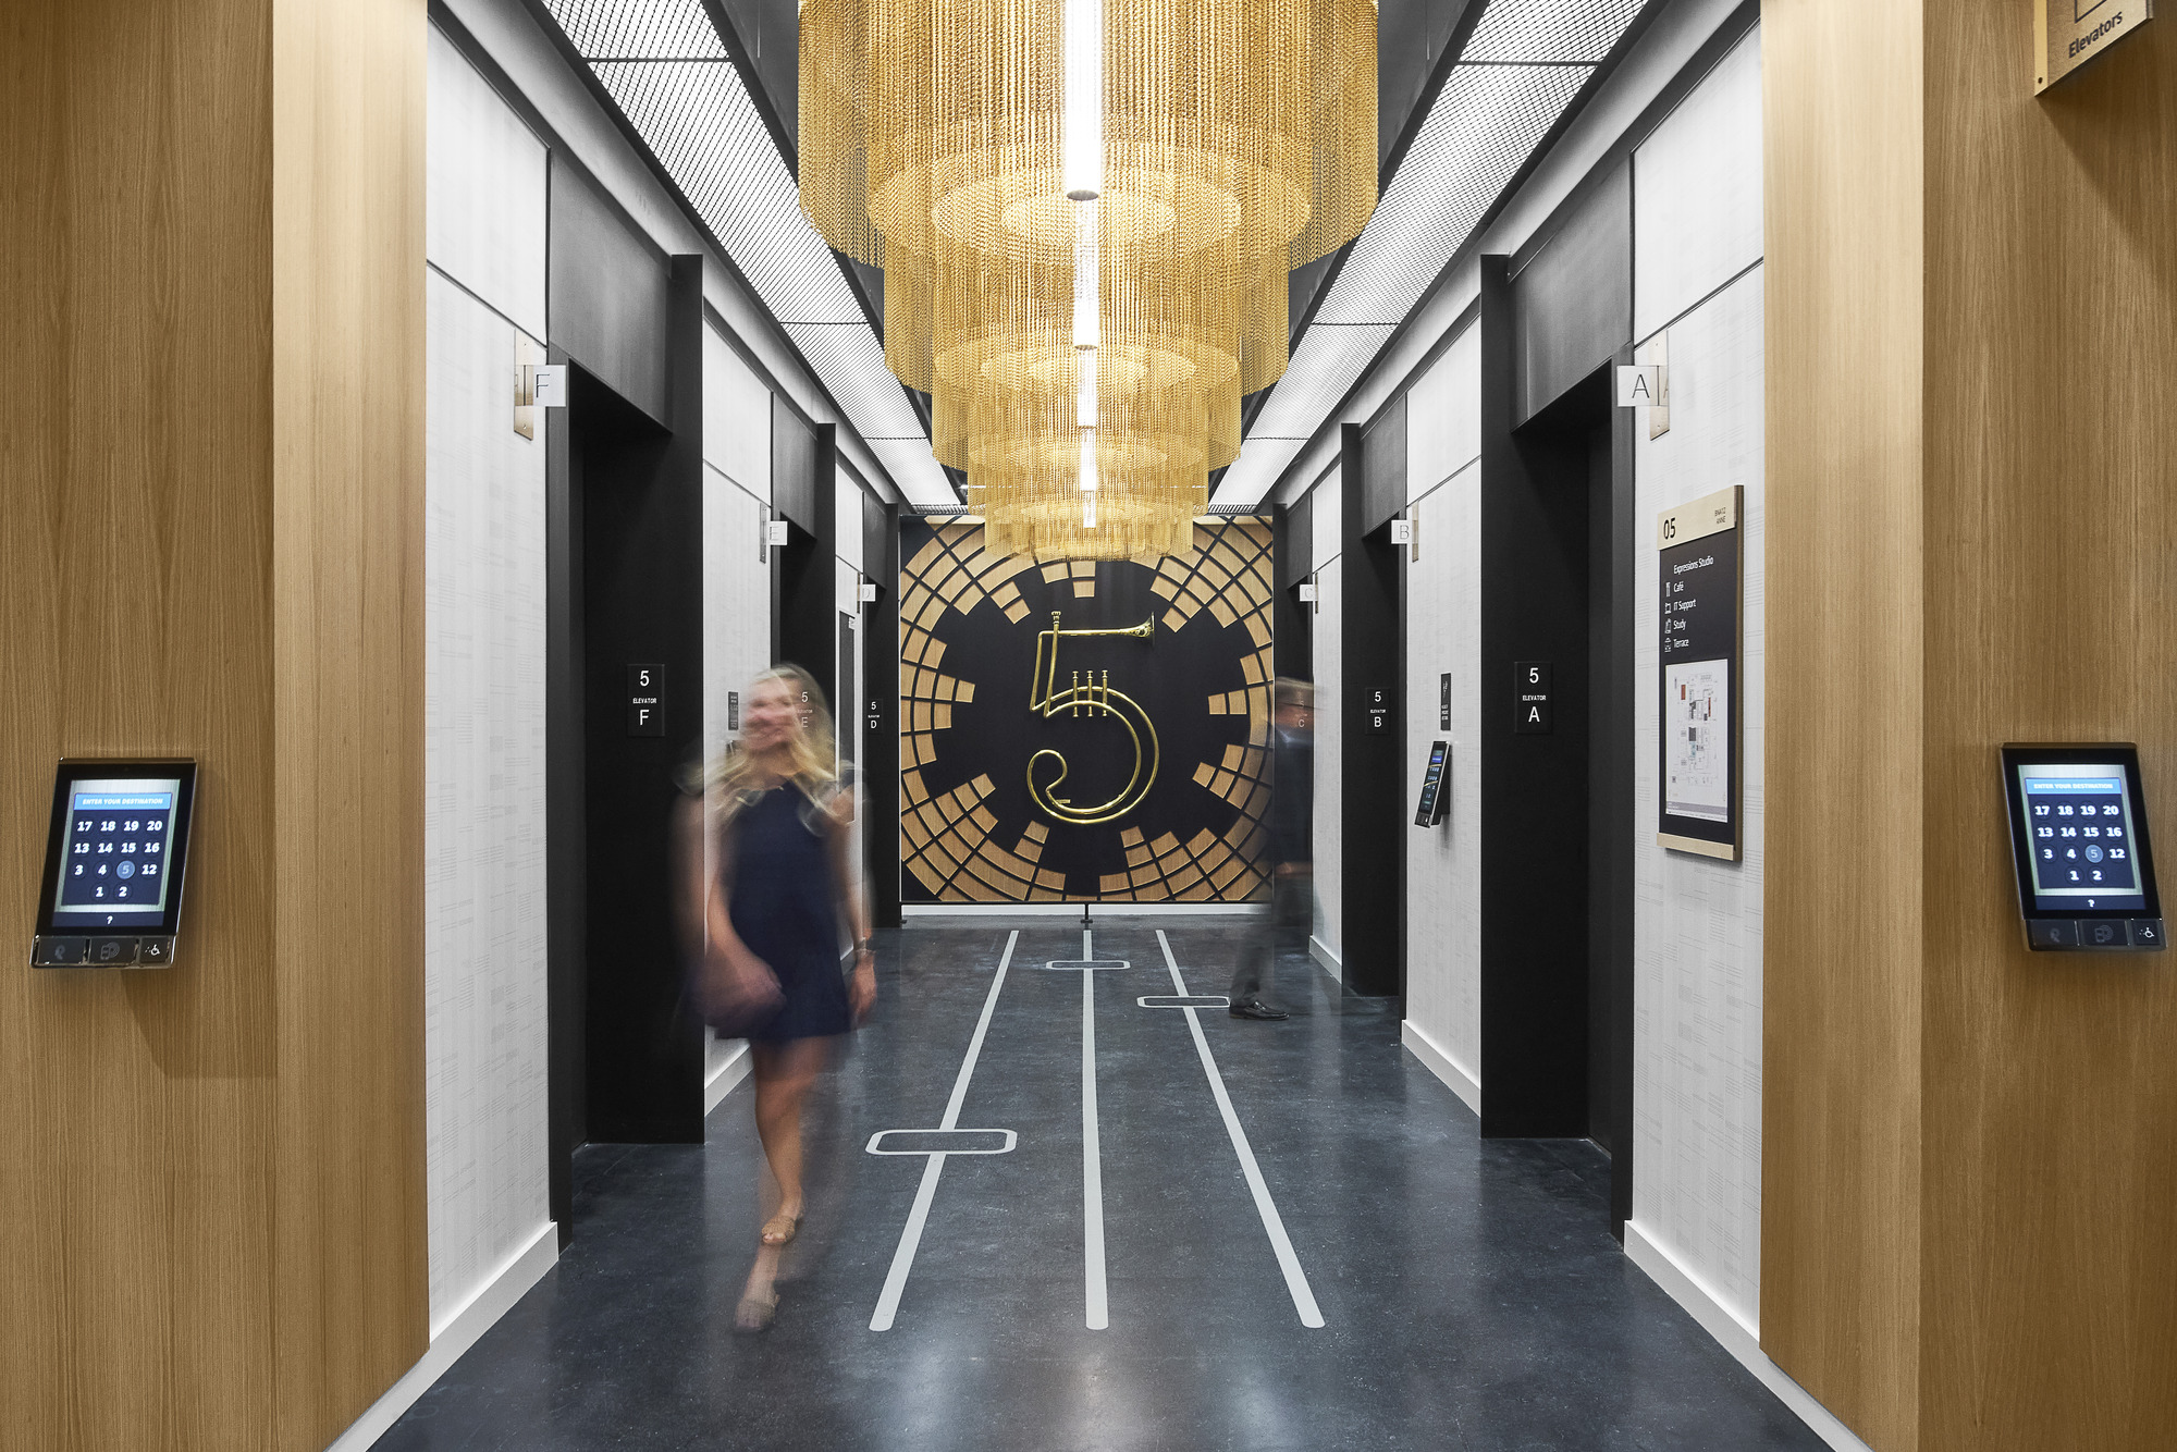
<path fill-rule="evenodd" d="M 1567 387 L 1633 335 L 1633 168 L 1618 163 L 1581 198 L 1557 235 L 1513 279 L 1517 337 L 1515 422 L 1557 403 Z"/>

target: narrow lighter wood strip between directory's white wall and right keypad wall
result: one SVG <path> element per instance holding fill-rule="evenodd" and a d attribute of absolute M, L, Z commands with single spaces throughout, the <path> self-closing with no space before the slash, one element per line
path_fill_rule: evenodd
<path fill-rule="evenodd" d="M 1761 1348 L 1918 1441 L 1920 0 L 1761 11 Z"/>

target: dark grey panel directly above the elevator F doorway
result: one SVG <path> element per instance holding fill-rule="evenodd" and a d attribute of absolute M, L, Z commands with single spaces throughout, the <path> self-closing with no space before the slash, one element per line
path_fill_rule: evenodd
<path fill-rule="evenodd" d="M 551 174 L 551 340 L 664 424 L 668 261 L 573 168 Z"/>

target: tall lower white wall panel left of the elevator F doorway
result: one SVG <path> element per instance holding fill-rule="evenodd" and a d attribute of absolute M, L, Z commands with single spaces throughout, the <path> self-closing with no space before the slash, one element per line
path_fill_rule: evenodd
<path fill-rule="evenodd" d="M 444 133 L 433 124 L 431 135 Z M 540 253 L 542 242 L 538 233 Z M 514 327 L 438 274 L 427 274 L 425 292 L 425 1121 L 435 1334 L 551 1217 L 544 435 L 514 433 Z"/>

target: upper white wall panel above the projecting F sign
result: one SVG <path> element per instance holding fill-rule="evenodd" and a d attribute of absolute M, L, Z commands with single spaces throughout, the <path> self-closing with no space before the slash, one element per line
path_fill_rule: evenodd
<path fill-rule="evenodd" d="M 425 150 L 425 255 L 542 340 L 544 144 L 438 26 Z M 503 368 L 514 368 L 512 350 Z"/>

